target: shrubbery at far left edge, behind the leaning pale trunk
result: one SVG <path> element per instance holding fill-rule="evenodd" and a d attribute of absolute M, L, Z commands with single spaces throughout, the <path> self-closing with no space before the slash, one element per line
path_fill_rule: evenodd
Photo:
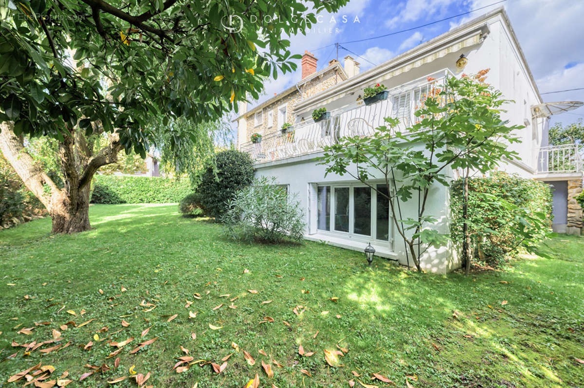
<path fill-rule="evenodd" d="M 16 172 L 0 156 L 0 229 L 46 213 L 43 204 L 26 190 Z"/>

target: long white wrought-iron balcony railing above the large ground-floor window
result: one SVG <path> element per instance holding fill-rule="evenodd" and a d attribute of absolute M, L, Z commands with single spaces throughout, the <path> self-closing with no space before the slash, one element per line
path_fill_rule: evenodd
<path fill-rule="evenodd" d="M 442 73 L 446 74 L 446 73 Z M 404 130 L 418 120 L 413 113 L 426 96 L 444 85 L 442 78 L 428 78 L 389 91 L 387 100 L 366 106 L 362 100 L 331 111 L 331 117 L 315 123 L 307 120 L 294 124 L 288 133 L 281 131 L 264 135 L 260 143 L 246 142 L 242 152 L 248 152 L 258 162 L 269 162 L 321 151 L 342 137 L 367 136 L 375 128 L 385 125 L 385 117 L 399 118 L 399 129 Z"/>

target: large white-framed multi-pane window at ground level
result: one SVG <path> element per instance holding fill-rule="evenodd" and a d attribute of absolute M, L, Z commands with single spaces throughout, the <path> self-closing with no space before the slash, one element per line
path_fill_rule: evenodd
<path fill-rule="evenodd" d="M 376 188 L 362 184 L 319 185 L 314 204 L 318 232 L 363 242 L 386 242 L 392 248 L 393 220 L 386 196 L 389 192 L 385 184 L 376 184 Z"/>

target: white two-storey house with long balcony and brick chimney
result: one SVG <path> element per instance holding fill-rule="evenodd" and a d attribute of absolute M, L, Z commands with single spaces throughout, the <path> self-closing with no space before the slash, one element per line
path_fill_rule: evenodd
<path fill-rule="evenodd" d="M 465 60 L 460 61 L 461 55 Z M 582 190 L 579 154 L 574 145 L 548 146 L 548 120 L 559 110 L 543 103 L 503 8 L 365 72 L 348 56 L 343 67 L 334 60 L 319 72 L 316 68 L 317 58 L 305 52 L 302 78 L 296 85 L 253 109 L 242 104 L 236 119 L 238 147 L 255 159 L 256 175 L 274 176 L 287 185 L 288 193 L 298 195 L 307 217 L 306 239 L 359 251 L 371 243 L 376 254 L 407 264 L 387 200 L 347 176 L 325 177 L 325 166 L 318 165 L 322 147 L 345 135 L 371 134 L 384 117 L 398 117 L 401 125 L 412 123 L 415 102 L 431 88 L 429 77 L 440 82 L 446 76 L 476 74 L 485 68 L 491 69 L 488 82 L 514 101 L 506 106 L 503 118 L 525 125 L 517 133 L 522 142 L 510 145 L 520 160 L 505 160 L 500 169 L 553 184 L 555 229 L 578 232 L 582 227 L 582 210 L 573 200 Z M 363 89 L 377 83 L 387 86 L 388 98 L 366 106 Z M 311 113 L 320 107 L 331 116 L 315 123 Z M 293 127 L 281 130 L 283 123 Z M 253 143 L 250 139 L 256 133 L 262 138 Z M 385 187 L 381 180 L 372 179 L 370 184 Z M 437 185 L 431 196 L 428 214 L 439 220 L 435 228 L 448 233 L 449 188 Z M 417 202 L 413 202 L 401 208 L 403 218 L 415 215 Z M 456 249 L 445 246 L 427 250 L 420 264 L 426 271 L 446 273 L 461 263 Z"/>

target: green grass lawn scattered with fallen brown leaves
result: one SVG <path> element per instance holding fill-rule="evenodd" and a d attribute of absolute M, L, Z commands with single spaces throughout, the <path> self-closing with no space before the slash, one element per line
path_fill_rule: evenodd
<path fill-rule="evenodd" d="M 441 276 L 379 258 L 369 269 L 363 254 L 318 243 L 230 242 L 220 225 L 181 218 L 176 205 L 96 205 L 90 213 L 94 229 L 78 235 L 51 236 L 50 219 L 0 232 L 0 382 L 6 386 L 22 386 L 23 380 L 6 380 L 39 362 L 55 367 L 53 378 L 67 370 L 73 380 L 91 371 L 86 363 L 110 366 L 71 384 L 91 387 L 109 386 L 107 380 L 127 376 L 132 365 L 138 373 L 151 372 L 148 383 L 157 387 L 242 387 L 256 373 L 260 386 L 280 388 L 348 386 L 350 379 L 390 386 L 372 382 L 371 373 L 400 387 L 414 375 L 413 387 L 584 386 L 584 365 L 575 360 L 584 359 L 583 237 L 552 240 L 547 250 L 554 259 L 529 257 L 505 272 Z M 230 309 L 235 296 L 237 309 Z M 142 300 L 155 309 L 145 312 Z M 193 301 L 190 308 L 186 300 Z M 266 300 L 272 302 L 262 304 Z M 306 307 L 300 315 L 293 312 L 298 305 Z M 189 310 L 198 312 L 196 318 L 189 319 Z M 173 314 L 178 317 L 168 322 Z M 266 316 L 274 322 L 261 323 Z M 90 319 L 62 330 L 60 343 L 71 345 L 46 355 L 11 346 L 49 340 L 51 329 Z M 122 319 L 130 326 L 123 327 Z M 51 323 L 34 326 L 43 321 Z M 18 334 L 23 327 L 34 327 L 33 333 Z M 100 342 L 93 341 L 98 331 Z M 135 340 L 113 369 L 108 342 L 128 337 Z M 130 354 L 154 337 L 152 345 Z M 84 350 L 89 341 L 96 343 Z M 254 366 L 239 352 L 218 375 L 211 365 L 172 370 L 181 345 L 194 360 L 220 364 L 234 352 L 232 341 L 251 353 Z M 298 355 L 300 344 L 315 354 Z M 324 349 L 337 344 L 348 352 L 344 366 L 331 368 Z M 283 368 L 272 363 L 269 379 L 260 361 L 272 359 Z"/>

